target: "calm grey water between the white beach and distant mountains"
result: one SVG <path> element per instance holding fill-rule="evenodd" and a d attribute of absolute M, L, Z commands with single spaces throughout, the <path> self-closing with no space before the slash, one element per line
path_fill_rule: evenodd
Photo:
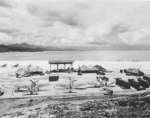
<path fill-rule="evenodd" d="M 150 61 L 150 51 L 45 51 L 0 53 L 0 61 L 7 60 Z"/>

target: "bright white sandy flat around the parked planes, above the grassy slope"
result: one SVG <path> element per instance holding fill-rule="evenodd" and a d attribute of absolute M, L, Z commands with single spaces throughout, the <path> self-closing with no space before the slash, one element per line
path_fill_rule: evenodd
<path fill-rule="evenodd" d="M 4 64 L 5 62 L 0 62 L 0 64 Z M 30 87 L 30 80 L 36 81 L 39 80 L 38 84 L 43 84 L 46 85 L 45 87 L 40 88 L 40 91 L 37 92 L 37 95 L 32 95 L 32 97 L 34 96 L 65 96 L 65 95 L 83 95 L 83 94 L 93 94 L 93 93 L 98 93 L 98 94 L 103 94 L 106 91 L 103 91 L 102 88 L 94 88 L 91 85 L 88 85 L 88 82 L 96 82 L 96 77 L 97 76 L 101 76 L 101 75 L 96 75 L 96 74 L 83 74 L 82 76 L 78 76 L 77 73 L 52 73 L 52 74 L 45 74 L 43 76 L 32 76 L 32 77 L 23 77 L 23 78 L 16 78 L 15 77 L 15 71 L 18 70 L 20 67 L 24 66 L 24 65 L 28 65 L 28 64 L 32 64 L 32 65 L 38 65 L 41 68 L 43 68 L 44 71 L 49 70 L 49 64 L 48 61 L 39 61 L 39 62 L 29 62 L 29 61 L 21 61 L 21 62 L 12 62 L 12 61 L 7 61 L 6 62 L 8 64 L 7 67 L 5 68 L 0 68 L 0 86 L 4 85 L 4 89 L 5 89 L 5 94 L 3 96 L 0 96 L 0 98 L 14 98 L 14 97 L 31 97 L 31 95 L 29 94 L 29 91 L 27 91 L 26 89 L 24 89 L 23 92 L 14 92 L 15 86 L 16 85 L 27 85 Z M 19 63 L 20 67 L 18 68 L 12 68 L 12 65 Z M 102 62 L 101 62 L 102 63 Z M 105 65 L 108 65 L 110 62 L 105 63 Z M 123 63 L 123 62 L 122 62 Z M 112 73 L 106 73 L 106 77 L 109 78 L 110 82 L 115 82 L 116 77 L 121 77 L 125 80 L 128 80 L 129 78 L 135 78 L 134 76 L 126 76 L 125 74 L 121 74 L 119 73 L 119 69 L 118 66 L 122 65 L 122 63 L 119 62 L 119 64 L 115 63 L 111 63 L 111 68 L 114 68 L 113 70 L 111 69 L 111 71 L 113 71 Z M 87 65 L 87 62 L 84 62 L 85 65 Z M 91 65 L 96 64 L 96 62 L 91 63 Z M 100 62 L 98 63 L 100 64 Z M 149 64 L 149 63 L 148 63 Z M 78 65 L 81 65 L 81 62 L 76 62 L 74 64 L 75 67 L 77 67 Z M 89 64 L 90 65 L 90 64 Z M 140 65 L 140 63 L 134 63 L 131 64 L 131 62 L 126 62 L 125 66 L 128 67 L 129 65 L 132 65 L 132 67 L 137 67 Z M 145 65 L 145 63 L 143 64 Z M 104 67 L 104 66 L 103 66 Z M 106 66 L 107 67 L 107 66 Z M 145 66 L 146 67 L 146 66 Z M 105 67 L 104 67 L 105 68 Z M 120 67 L 122 68 L 122 67 Z M 107 69 L 107 68 L 106 68 Z M 148 71 L 147 71 L 148 72 Z M 48 78 L 51 75 L 58 75 L 59 76 L 59 81 L 57 82 L 49 82 Z M 85 88 L 81 88 L 79 89 L 73 89 L 73 93 L 68 93 L 69 90 L 64 89 L 62 87 L 56 87 L 55 84 L 57 83 L 63 83 L 63 84 L 68 84 L 69 83 L 69 79 L 68 77 L 71 77 L 72 79 L 76 79 L 77 81 L 75 82 L 75 84 L 85 84 Z M 48 85 L 47 85 L 48 84 Z M 114 92 L 122 92 L 122 91 L 128 91 L 128 92 L 134 92 L 136 91 L 134 88 L 131 88 L 130 90 L 124 90 L 122 88 L 120 88 L 119 86 L 115 86 L 115 87 L 111 87 L 110 89 L 112 89 Z"/>

